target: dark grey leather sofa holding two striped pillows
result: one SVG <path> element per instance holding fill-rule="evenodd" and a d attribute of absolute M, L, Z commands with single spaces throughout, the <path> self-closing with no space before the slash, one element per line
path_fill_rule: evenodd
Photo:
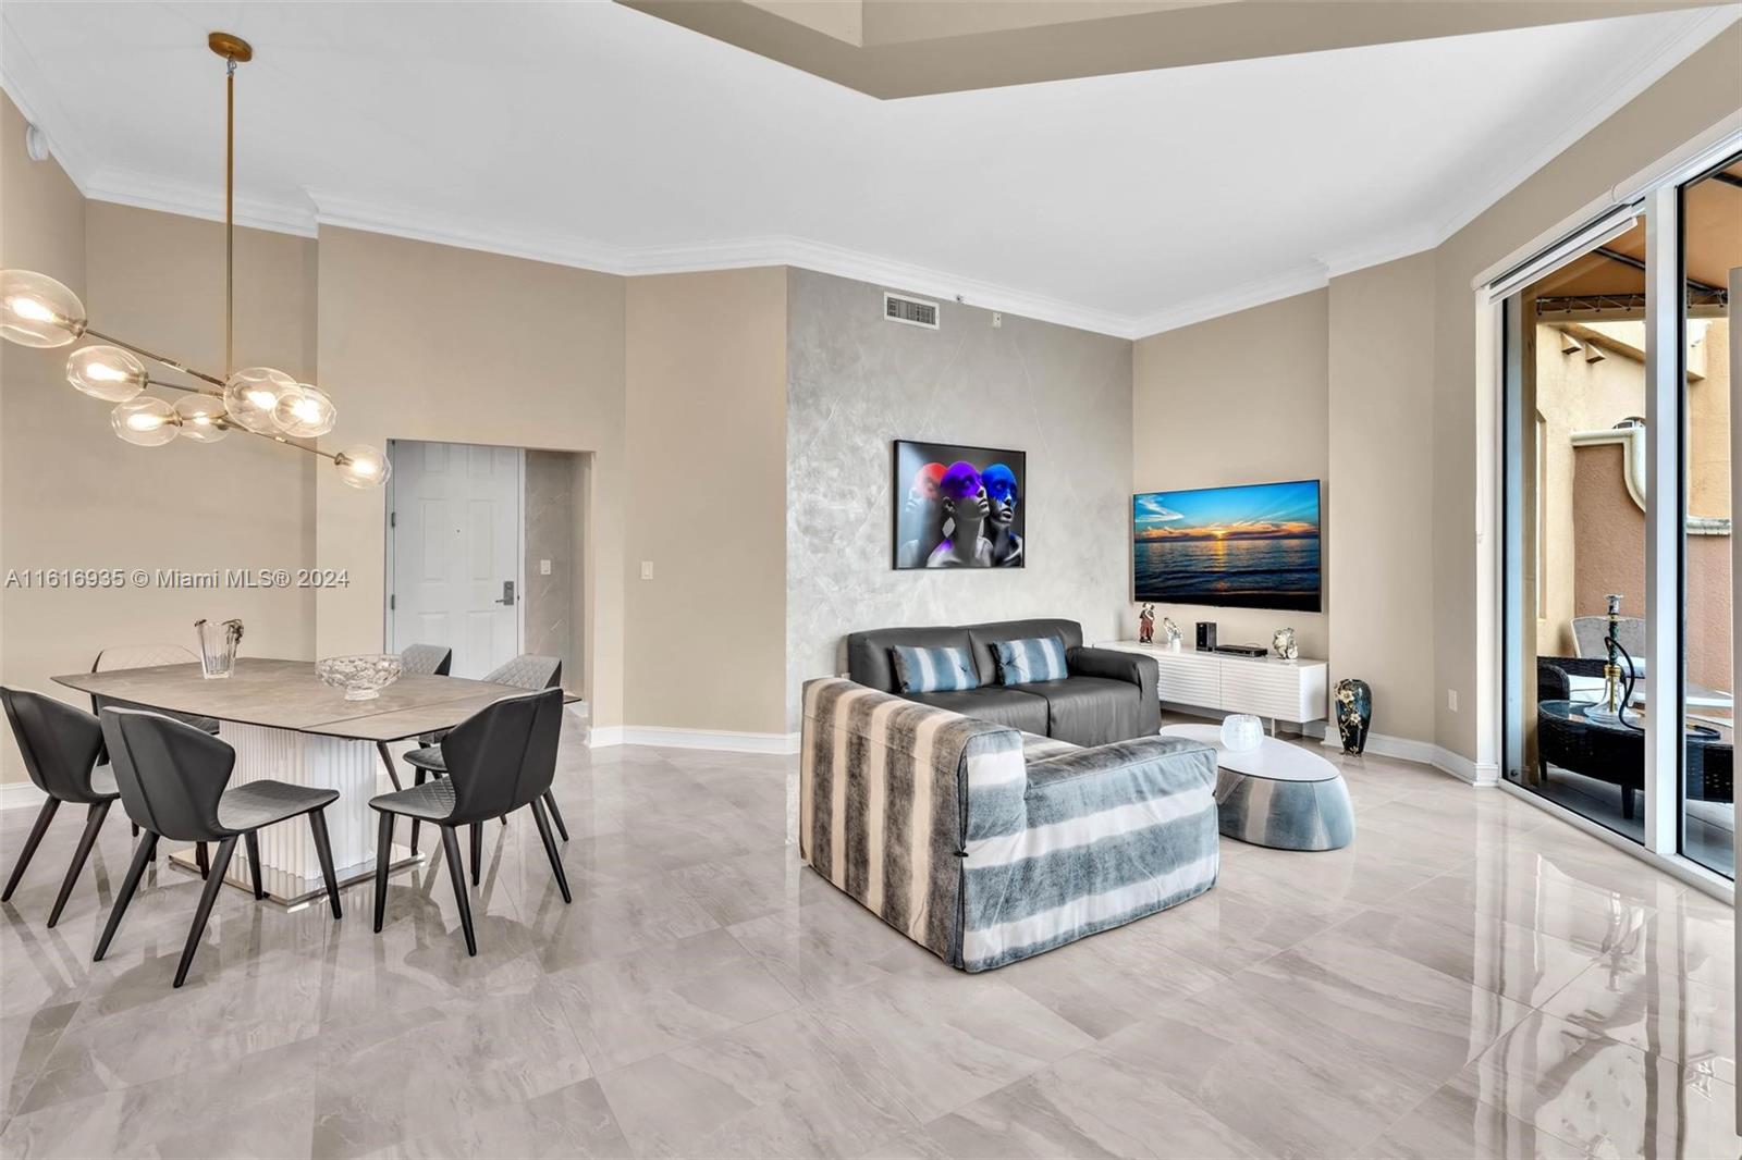
<path fill-rule="evenodd" d="M 991 646 L 1035 636 L 1064 641 L 1070 676 L 1009 688 L 998 685 L 998 662 Z M 888 651 L 895 644 L 967 648 L 979 669 L 981 686 L 962 693 L 902 693 Z M 1056 737 L 1073 745 L 1106 745 L 1150 737 L 1162 728 L 1162 705 L 1155 691 L 1160 669 L 1155 660 L 1110 648 L 1084 648 L 1084 629 L 1075 620 L 1002 620 L 944 629 L 852 632 L 847 637 L 847 676 L 923 705 L 1024 733 Z"/>

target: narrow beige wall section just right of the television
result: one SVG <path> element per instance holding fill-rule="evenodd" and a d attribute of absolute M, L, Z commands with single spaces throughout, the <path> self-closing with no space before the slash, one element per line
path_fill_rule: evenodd
<path fill-rule="evenodd" d="M 1434 740 L 1434 256 L 1331 280 L 1331 681 L 1373 728 Z"/>

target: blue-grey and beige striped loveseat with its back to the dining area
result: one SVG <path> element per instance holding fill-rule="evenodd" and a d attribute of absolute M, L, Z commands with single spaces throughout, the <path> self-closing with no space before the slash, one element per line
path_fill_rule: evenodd
<path fill-rule="evenodd" d="M 805 685 L 800 754 L 800 855 L 963 970 L 1216 885 L 1216 752 L 1197 742 L 1080 749 L 827 678 Z"/>

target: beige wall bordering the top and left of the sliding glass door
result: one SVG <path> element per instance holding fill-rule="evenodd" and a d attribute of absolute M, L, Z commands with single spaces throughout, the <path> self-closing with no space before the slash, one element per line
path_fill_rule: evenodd
<path fill-rule="evenodd" d="M 1742 108 L 1733 24 L 1434 251 L 1434 669 L 1439 745 L 1477 758 L 1477 310 L 1470 280 Z M 1482 481 L 1488 484 L 1489 481 Z M 1460 709 L 1444 690 L 1460 691 Z"/>

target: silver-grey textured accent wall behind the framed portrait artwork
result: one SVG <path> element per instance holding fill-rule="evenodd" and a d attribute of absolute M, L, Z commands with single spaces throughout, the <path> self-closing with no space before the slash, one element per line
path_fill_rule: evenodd
<path fill-rule="evenodd" d="M 883 289 L 787 272 L 791 730 L 800 683 L 841 671 L 857 629 L 1070 617 L 1094 641 L 1136 624 L 1132 345 L 956 303 L 937 331 L 887 322 Z M 1026 451 L 1028 566 L 895 571 L 895 439 Z"/>

